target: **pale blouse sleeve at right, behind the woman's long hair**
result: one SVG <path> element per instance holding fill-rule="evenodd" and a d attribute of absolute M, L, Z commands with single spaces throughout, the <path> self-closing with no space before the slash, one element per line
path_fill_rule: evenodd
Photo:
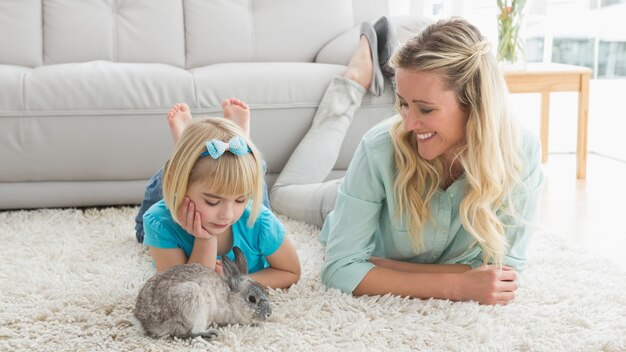
<path fill-rule="evenodd" d="M 504 257 L 505 265 L 514 267 L 520 272 L 524 271 L 526 266 L 526 250 L 535 230 L 534 221 L 543 187 L 540 145 L 536 138 L 527 134 L 523 141 L 523 151 L 523 187 L 512 195 L 521 222 L 506 231 L 509 248 Z"/>

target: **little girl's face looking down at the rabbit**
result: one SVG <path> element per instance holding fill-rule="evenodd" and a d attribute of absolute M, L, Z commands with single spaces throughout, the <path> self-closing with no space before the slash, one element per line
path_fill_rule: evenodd
<path fill-rule="evenodd" d="M 203 182 L 195 182 L 187 189 L 187 196 L 202 217 L 202 227 L 212 235 L 219 235 L 235 223 L 248 204 L 249 195 L 212 193 Z"/>

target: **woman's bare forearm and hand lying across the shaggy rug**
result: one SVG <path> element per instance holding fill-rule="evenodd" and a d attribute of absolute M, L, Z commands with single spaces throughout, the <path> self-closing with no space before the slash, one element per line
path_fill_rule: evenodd
<path fill-rule="evenodd" d="M 476 301 L 481 304 L 508 304 L 515 298 L 517 273 L 509 267 L 481 266 L 461 271 L 460 266 L 445 264 L 416 266 L 426 272 L 400 271 L 383 266 L 372 268 L 353 294 L 387 293 L 414 298 L 442 298 Z"/>

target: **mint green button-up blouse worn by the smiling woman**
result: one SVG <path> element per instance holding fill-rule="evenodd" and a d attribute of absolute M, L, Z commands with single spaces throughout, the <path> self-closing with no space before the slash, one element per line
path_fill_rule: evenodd
<path fill-rule="evenodd" d="M 463 227 L 459 216 L 465 194 L 464 176 L 446 190 L 437 191 L 429 204 L 434 221 L 429 221 L 423 232 L 424 246 L 419 251 L 413 249 L 406 223 L 395 216 L 396 167 L 389 129 L 398 118 L 379 123 L 362 138 L 337 192 L 335 209 L 320 232 L 320 241 L 326 246 L 321 276 L 328 287 L 352 292 L 374 267 L 368 261 L 372 256 L 471 267 L 483 263 L 480 246 Z M 526 248 L 543 185 L 536 137 L 524 131 L 521 148 L 524 162 L 521 178 L 525 187 L 511 196 L 516 210 L 526 221 L 506 228 L 508 252 L 504 259 L 505 265 L 518 271 L 526 263 Z"/>

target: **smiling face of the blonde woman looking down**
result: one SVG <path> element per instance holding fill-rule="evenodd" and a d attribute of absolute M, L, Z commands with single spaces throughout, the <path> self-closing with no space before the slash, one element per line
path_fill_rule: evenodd
<path fill-rule="evenodd" d="M 456 92 L 445 89 L 441 74 L 399 68 L 396 95 L 404 128 L 413 132 L 418 154 L 426 160 L 442 156 L 449 165 L 465 143 L 468 117 Z"/>

